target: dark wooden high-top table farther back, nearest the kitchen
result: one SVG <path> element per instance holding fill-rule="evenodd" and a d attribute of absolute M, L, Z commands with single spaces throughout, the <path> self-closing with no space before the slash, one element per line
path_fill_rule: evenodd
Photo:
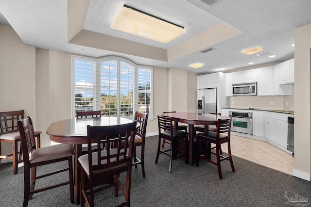
<path fill-rule="evenodd" d="M 166 112 L 162 116 L 172 117 L 174 127 L 178 127 L 178 122 L 189 125 L 189 163 L 193 165 L 193 143 L 194 143 L 194 125 L 204 125 L 208 130 L 208 125 L 216 125 L 218 119 L 226 119 L 229 117 L 211 113 L 195 113 L 195 112 Z"/>

